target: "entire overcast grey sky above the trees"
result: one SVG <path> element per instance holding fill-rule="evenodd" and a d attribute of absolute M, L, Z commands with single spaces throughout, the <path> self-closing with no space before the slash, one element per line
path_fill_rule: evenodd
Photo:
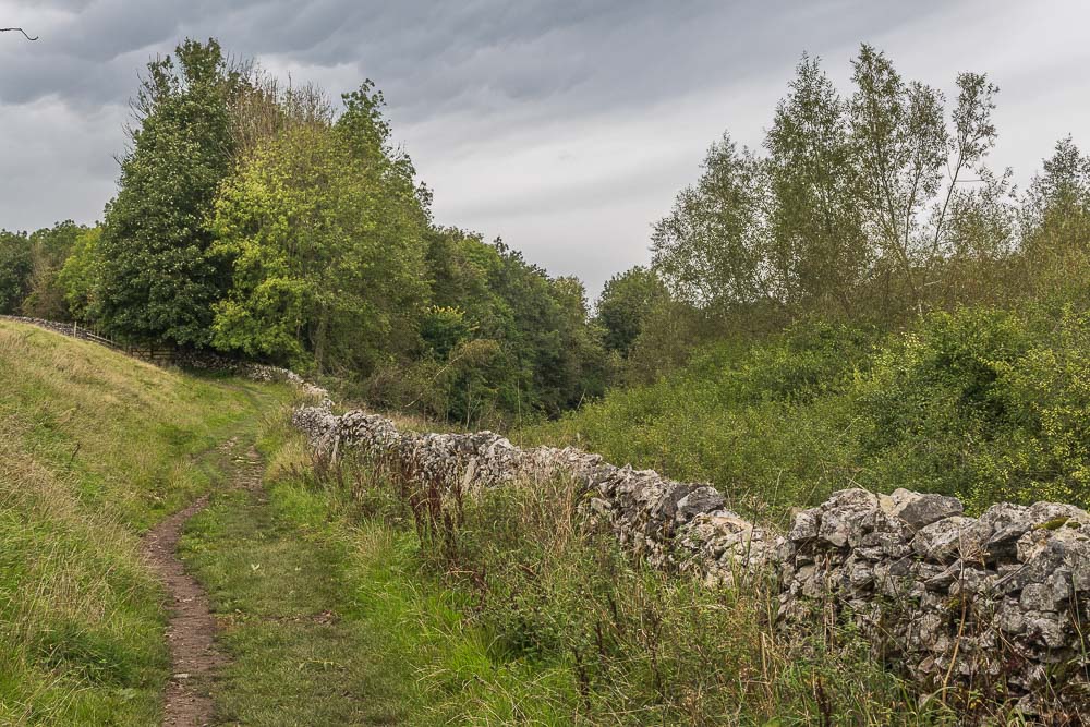
<path fill-rule="evenodd" d="M 99 219 L 136 74 L 215 36 L 331 95 L 373 78 L 435 216 L 595 294 L 725 130 L 759 145 L 802 51 L 847 84 L 859 43 L 907 78 L 1001 87 L 997 167 L 1090 146 L 1081 0 L 0 0 L 0 227 Z"/>

